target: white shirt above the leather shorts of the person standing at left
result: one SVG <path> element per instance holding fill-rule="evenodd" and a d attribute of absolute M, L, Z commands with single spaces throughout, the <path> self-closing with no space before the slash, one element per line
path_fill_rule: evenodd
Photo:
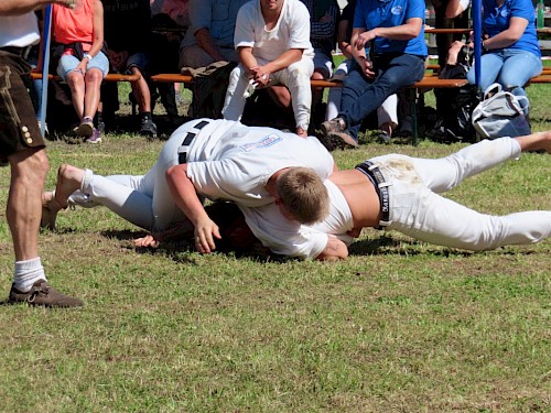
<path fill-rule="evenodd" d="M 34 12 L 0 17 L 0 47 L 26 47 L 39 41 L 39 24 Z"/>

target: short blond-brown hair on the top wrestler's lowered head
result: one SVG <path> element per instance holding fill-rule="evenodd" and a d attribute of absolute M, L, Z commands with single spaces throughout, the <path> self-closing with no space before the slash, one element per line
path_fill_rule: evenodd
<path fill-rule="evenodd" d="M 277 182 L 281 204 L 301 224 L 315 224 L 329 213 L 329 195 L 310 167 L 290 167 Z"/>

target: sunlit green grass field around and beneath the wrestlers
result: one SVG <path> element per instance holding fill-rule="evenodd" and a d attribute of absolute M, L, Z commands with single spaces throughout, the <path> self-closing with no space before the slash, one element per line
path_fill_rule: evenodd
<path fill-rule="evenodd" d="M 528 88 L 549 129 L 545 85 Z M 48 143 L 100 174 L 145 172 L 163 142 L 108 134 Z M 363 145 L 436 157 L 462 148 Z M 490 214 L 549 209 L 551 162 L 525 154 L 450 197 Z M 0 170 L 0 292 L 13 253 Z M 43 231 L 50 281 L 80 311 L 0 309 L 2 412 L 549 412 L 551 240 L 472 253 L 365 230 L 346 262 L 139 250 L 143 231 L 105 208 Z"/>

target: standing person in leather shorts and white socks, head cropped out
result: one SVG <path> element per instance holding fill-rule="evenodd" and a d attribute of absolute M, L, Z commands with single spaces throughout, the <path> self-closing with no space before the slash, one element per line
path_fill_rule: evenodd
<path fill-rule="evenodd" d="M 23 79 L 30 46 L 40 41 L 35 9 L 50 3 L 75 8 L 77 0 L 0 1 L 0 162 L 11 169 L 6 216 L 13 238 L 15 269 L 9 303 L 80 307 L 78 298 L 54 290 L 39 257 L 42 192 L 48 170 L 45 144 Z"/>

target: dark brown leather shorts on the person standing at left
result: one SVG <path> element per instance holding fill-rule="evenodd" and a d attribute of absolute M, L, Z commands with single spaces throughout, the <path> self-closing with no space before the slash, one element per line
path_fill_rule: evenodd
<path fill-rule="evenodd" d="M 0 50 L 0 161 L 30 148 L 44 148 L 26 85 L 31 66 Z"/>

